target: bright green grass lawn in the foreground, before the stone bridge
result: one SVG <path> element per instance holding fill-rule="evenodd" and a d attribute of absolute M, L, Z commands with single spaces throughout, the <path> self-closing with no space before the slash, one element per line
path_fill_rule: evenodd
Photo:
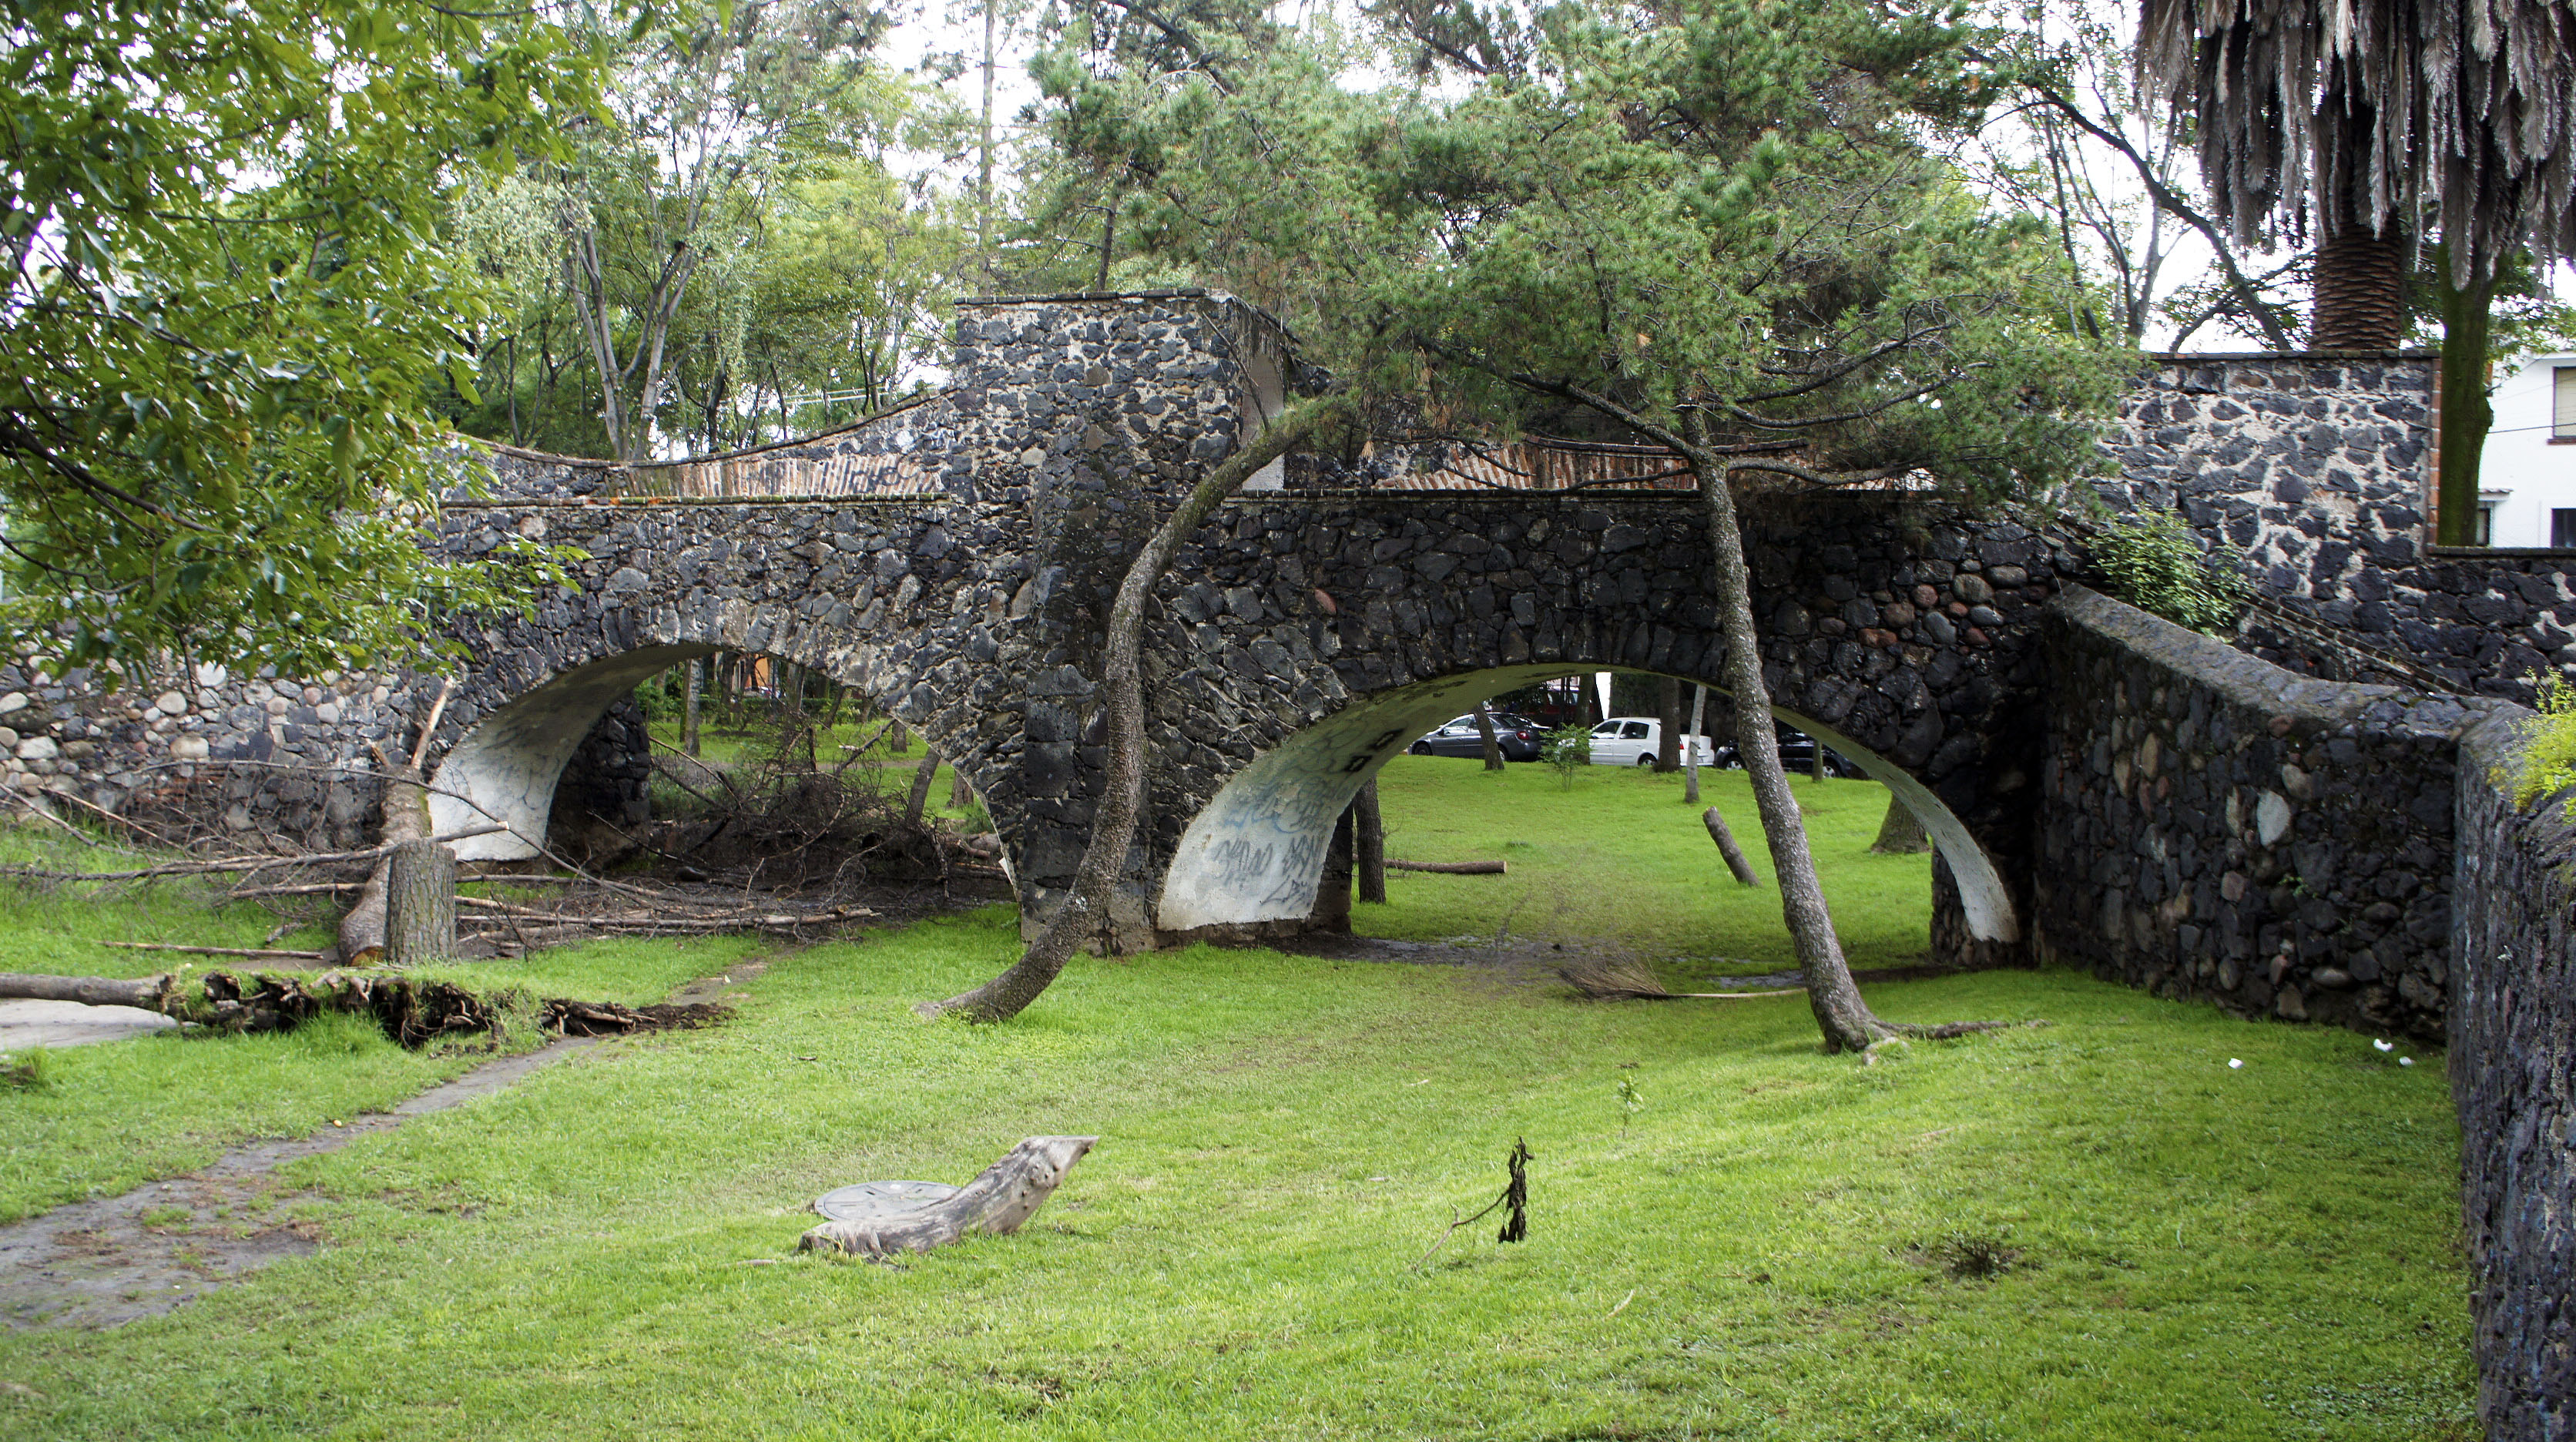
<path fill-rule="evenodd" d="M 1607 806 L 1682 814 L 1597 770 L 1574 793 L 1592 811 L 1543 811 L 1533 767 L 1492 788 L 1473 762 L 1404 765 L 1394 852 L 1435 855 L 1404 809 L 1445 778 L 1445 816 L 1512 821 L 1455 855 L 1571 847 Z M 1875 827 L 1875 785 L 1824 791 Z M 1525 834 L 1548 819 L 1566 834 Z M 1695 886 L 1636 896 L 1672 909 Z M 489 966 L 641 997 L 750 950 Z M 2053 1025 L 1857 1066 L 1816 1051 L 1795 997 L 1595 1004 L 1216 948 L 1077 958 L 1002 1027 L 912 1017 L 1012 950 L 989 909 L 786 953 L 734 1025 L 603 1043 L 296 1161 L 281 1205 L 325 1251 L 116 1331 L 0 1336 L 0 1437 L 2476 1434 L 2437 1056 L 2401 1069 L 2352 1033 L 1978 973 L 1870 1002 Z M 8 1195 L 121 1187 L 466 1061 L 363 1027 L 64 1051 L 46 1089 L 0 1092 Z M 1020 1236 L 902 1267 L 786 1259 L 822 1190 L 963 1182 L 1033 1133 L 1103 1141 Z M 1494 1197 L 1515 1138 L 1538 1156 L 1530 1239 L 1502 1246 L 1486 1218 L 1417 1262 Z M 1978 1249 L 2007 1264 L 1953 1275 Z"/>

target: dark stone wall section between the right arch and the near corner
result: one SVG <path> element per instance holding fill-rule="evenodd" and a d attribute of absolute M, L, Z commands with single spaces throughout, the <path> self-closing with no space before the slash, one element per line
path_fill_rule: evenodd
<path fill-rule="evenodd" d="M 2496 703 L 2300 677 L 2081 587 L 2048 649 L 2043 958 L 2445 1033 L 2458 742 Z"/>

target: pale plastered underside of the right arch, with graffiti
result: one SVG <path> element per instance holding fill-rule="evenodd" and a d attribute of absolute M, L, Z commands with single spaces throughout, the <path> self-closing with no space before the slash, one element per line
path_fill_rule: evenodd
<path fill-rule="evenodd" d="M 1293 731 L 1236 770 L 1190 819 L 1164 868 L 1154 904 L 1157 930 L 1193 932 L 1303 919 L 1314 912 L 1332 827 L 1368 778 L 1414 736 L 1479 700 L 1577 670 L 1592 667 L 1558 662 L 1445 675 L 1360 698 Z M 1690 675 L 1680 680 L 1708 685 Z M 1710 690 L 1726 695 L 1718 685 Z M 1932 788 L 1832 726 L 1777 706 L 1772 713 L 1860 762 L 1922 819 L 1924 834 L 1958 883 L 1963 922 L 1973 940 L 2020 940 L 2020 914 L 2002 870 Z"/>

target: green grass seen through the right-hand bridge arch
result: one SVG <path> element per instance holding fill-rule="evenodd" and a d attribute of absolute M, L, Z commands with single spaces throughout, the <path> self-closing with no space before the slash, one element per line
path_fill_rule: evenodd
<path fill-rule="evenodd" d="M 1870 855 L 1888 788 L 1875 780 L 1793 780 L 1834 930 L 1852 966 L 1911 966 L 1932 922 L 1932 855 Z M 1360 906 L 1373 937 L 1512 935 L 1613 940 L 1656 960 L 1674 984 L 1798 966 L 1780 922 L 1780 888 L 1741 770 L 1703 770 L 1700 798 L 1726 814 L 1762 876 L 1736 886 L 1682 801 L 1680 775 L 1582 767 L 1574 785 L 1543 765 L 1499 772 L 1476 760 L 1396 757 L 1378 772 L 1386 855 L 1507 860 L 1510 876 L 1386 873 L 1386 906 Z M 1757 966 L 1734 966 L 1757 963 Z"/>

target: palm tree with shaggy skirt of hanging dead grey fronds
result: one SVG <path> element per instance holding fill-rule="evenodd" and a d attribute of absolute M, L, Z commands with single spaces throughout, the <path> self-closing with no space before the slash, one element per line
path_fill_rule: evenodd
<path fill-rule="evenodd" d="M 2416 227 L 2439 227 L 2437 541 L 2468 543 L 2499 263 L 2522 247 L 2576 260 L 2576 15 L 2555 0 L 2143 0 L 2138 62 L 2200 118 L 2200 173 L 2239 242 L 2316 234 L 2308 345 L 2393 348 Z"/>

